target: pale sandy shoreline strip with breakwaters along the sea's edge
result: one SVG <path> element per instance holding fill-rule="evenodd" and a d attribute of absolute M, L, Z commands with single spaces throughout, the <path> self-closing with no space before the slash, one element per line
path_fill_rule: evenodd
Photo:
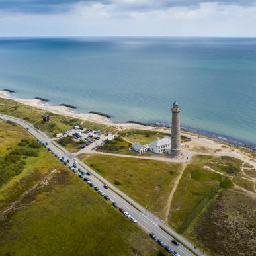
<path fill-rule="evenodd" d="M 68 104 L 62 105 L 48 105 L 46 101 L 43 101 L 41 97 L 35 97 L 34 99 L 21 99 L 18 97 L 13 97 L 9 95 L 9 93 L 13 92 L 12 90 L 7 91 L 6 89 L 0 90 L 0 98 L 3 99 L 12 99 L 14 101 L 18 101 L 19 103 L 23 103 L 25 105 L 29 105 L 31 107 L 40 108 L 42 110 L 53 112 L 54 114 L 60 114 L 64 116 L 69 116 L 72 118 L 78 118 L 83 121 L 95 122 L 97 124 L 104 124 L 107 126 L 116 126 L 117 128 L 122 129 L 140 129 L 140 130 L 164 130 L 164 129 L 171 129 L 171 124 L 165 122 L 149 122 L 149 123 L 142 123 L 129 120 L 124 123 L 114 122 L 111 120 L 110 115 L 102 114 L 96 111 L 90 111 L 87 113 L 78 112 L 75 108 L 69 107 Z M 167 132 L 165 130 L 165 132 Z M 169 131 L 171 132 L 171 131 Z M 189 128 L 181 126 L 181 133 L 189 134 L 190 136 L 202 136 L 212 142 L 221 142 L 230 144 L 233 146 L 239 146 L 241 148 L 251 149 L 252 151 L 256 151 L 256 145 L 251 144 L 250 142 L 243 142 L 242 140 L 237 140 L 236 138 L 231 138 L 228 136 L 224 136 L 222 134 L 214 134 L 213 132 L 208 132 L 204 130 L 198 130 L 195 128 Z"/>

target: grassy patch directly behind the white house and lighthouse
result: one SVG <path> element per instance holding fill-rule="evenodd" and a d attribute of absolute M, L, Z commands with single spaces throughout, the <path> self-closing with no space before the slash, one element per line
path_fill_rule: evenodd
<path fill-rule="evenodd" d="M 154 140 L 161 139 L 164 136 L 171 136 L 170 133 L 164 132 L 157 132 L 157 131 L 150 131 L 150 130 L 124 130 L 118 133 L 120 136 L 126 138 L 130 142 L 139 142 L 140 144 L 149 144 Z M 186 142 L 190 140 L 185 136 L 181 136 L 181 142 Z"/>

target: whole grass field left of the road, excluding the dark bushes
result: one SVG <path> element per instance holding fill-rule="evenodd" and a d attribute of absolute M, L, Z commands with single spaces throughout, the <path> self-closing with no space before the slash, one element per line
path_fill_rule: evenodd
<path fill-rule="evenodd" d="M 1 134 L 2 154 L 21 138 L 34 140 L 19 126 L 0 125 L 16 135 L 9 144 Z M 56 157 L 45 148 L 36 150 L 38 156 L 26 159 L 22 173 L 0 188 L 0 255 L 164 255 Z"/>

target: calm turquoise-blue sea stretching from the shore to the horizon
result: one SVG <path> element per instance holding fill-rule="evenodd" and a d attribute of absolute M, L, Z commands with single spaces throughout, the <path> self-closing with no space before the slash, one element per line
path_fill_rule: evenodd
<path fill-rule="evenodd" d="M 256 144 L 256 38 L 5 38 L 0 88 Z"/>

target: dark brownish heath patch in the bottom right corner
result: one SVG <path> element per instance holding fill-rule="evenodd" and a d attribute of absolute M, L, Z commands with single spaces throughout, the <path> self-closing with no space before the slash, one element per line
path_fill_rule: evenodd
<path fill-rule="evenodd" d="M 255 197 L 221 189 L 187 235 L 208 255 L 255 255 Z"/>

